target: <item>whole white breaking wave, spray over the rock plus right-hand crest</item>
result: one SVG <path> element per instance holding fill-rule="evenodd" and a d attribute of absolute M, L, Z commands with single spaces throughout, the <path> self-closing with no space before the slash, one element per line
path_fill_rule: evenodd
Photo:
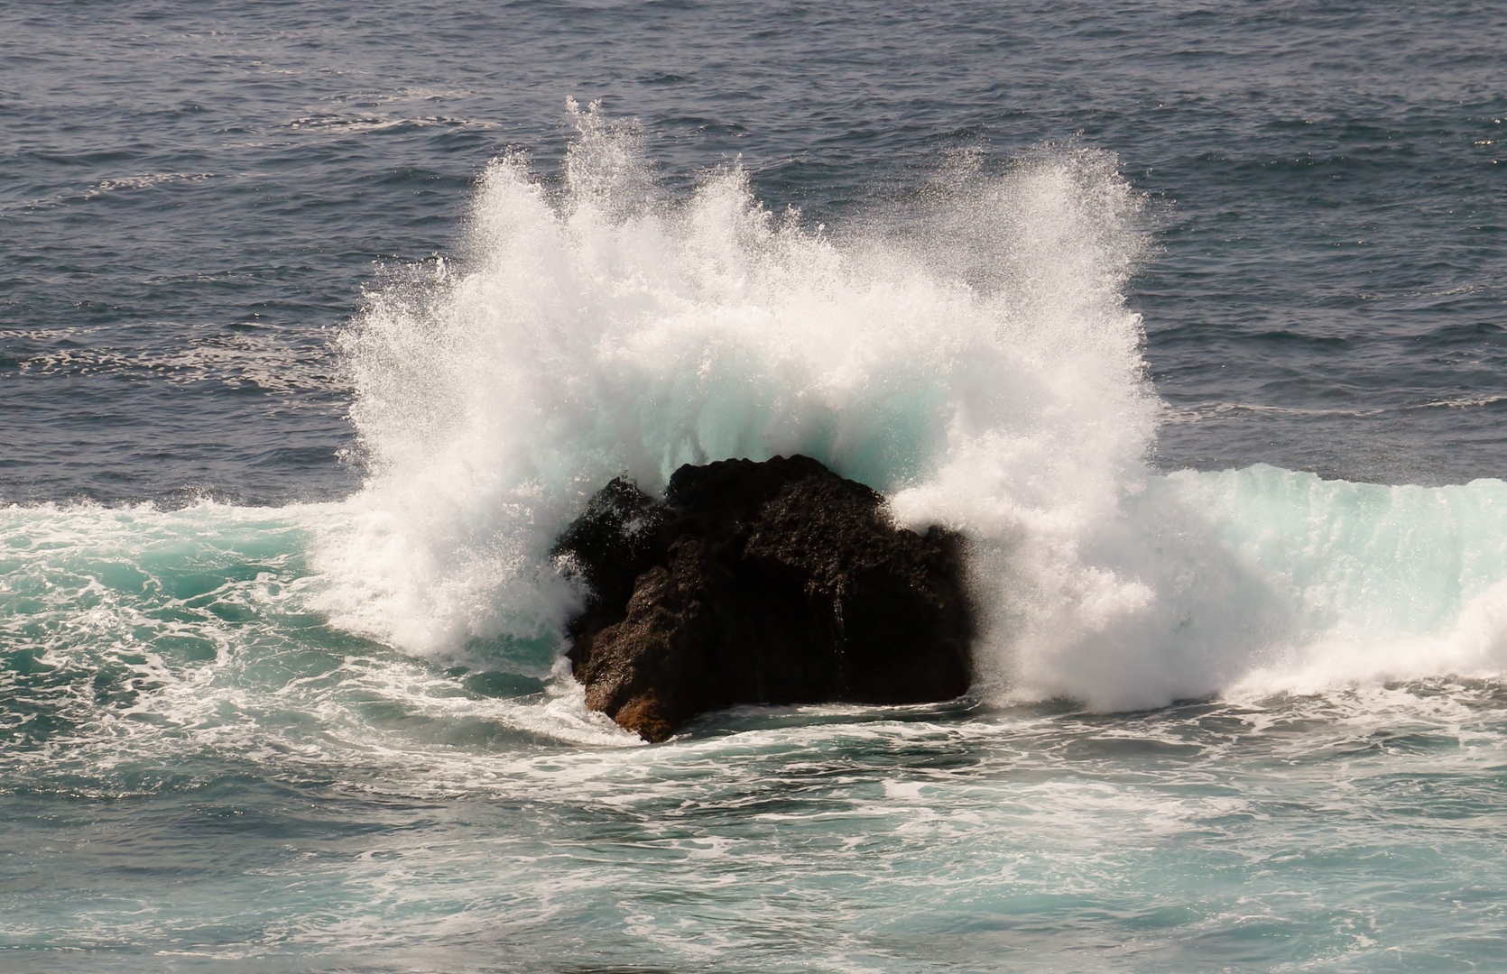
<path fill-rule="evenodd" d="M 573 113 L 559 188 L 491 163 L 463 257 L 389 275 L 345 336 L 371 473 L 315 548 L 338 625 L 547 671 L 580 599 L 547 551 L 597 488 L 806 453 L 967 534 L 996 699 L 1501 670 L 1507 485 L 1147 465 L 1112 157 L 964 155 L 830 235 L 737 166 L 666 199 L 631 126 Z"/>

